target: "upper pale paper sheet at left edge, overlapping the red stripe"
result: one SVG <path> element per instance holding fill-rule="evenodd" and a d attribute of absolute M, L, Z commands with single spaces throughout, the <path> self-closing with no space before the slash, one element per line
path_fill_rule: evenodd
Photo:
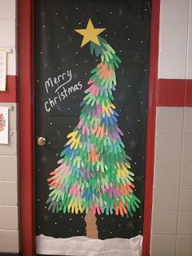
<path fill-rule="evenodd" d="M 0 91 L 6 90 L 7 51 L 0 51 Z"/>

